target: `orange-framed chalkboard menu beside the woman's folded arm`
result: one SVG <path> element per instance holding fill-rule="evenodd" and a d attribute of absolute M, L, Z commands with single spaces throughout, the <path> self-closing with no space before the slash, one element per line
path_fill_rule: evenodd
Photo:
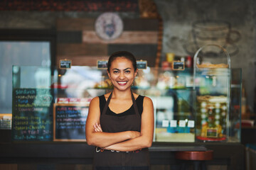
<path fill-rule="evenodd" d="M 88 106 L 73 103 L 53 105 L 53 141 L 86 141 Z"/>

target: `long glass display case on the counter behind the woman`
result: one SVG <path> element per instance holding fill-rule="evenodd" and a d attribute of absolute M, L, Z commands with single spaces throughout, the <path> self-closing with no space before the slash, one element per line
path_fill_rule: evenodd
<path fill-rule="evenodd" d="M 228 119 L 220 117 L 220 121 L 226 122 L 224 141 L 239 142 L 241 72 L 230 72 L 230 112 L 225 113 Z M 218 89 L 218 84 L 226 81 L 220 77 L 216 87 L 208 90 Z M 195 99 L 198 89 L 193 88 L 193 81 L 193 69 L 139 69 L 132 91 L 149 96 L 154 103 L 154 142 L 197 141 L 197 122 L 201 120 Z M 112 84 L 106 69 L 14 66 L 12 140 L 86 141 L 90 100 L 109 91 Z"/>

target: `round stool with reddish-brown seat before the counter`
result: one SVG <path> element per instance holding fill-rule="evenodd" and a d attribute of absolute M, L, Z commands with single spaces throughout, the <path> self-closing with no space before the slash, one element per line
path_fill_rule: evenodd
<path fill-rule="evenodd" d="M 206 161 L 213 159 L 213 150 L 206 151 L 178 151 L 175 153 L 176 159 L 183 160 L 181 169 L 186 169 L 186 161 L 193 162 L 195 170 L 202 169 L 206 170 Z"/>

